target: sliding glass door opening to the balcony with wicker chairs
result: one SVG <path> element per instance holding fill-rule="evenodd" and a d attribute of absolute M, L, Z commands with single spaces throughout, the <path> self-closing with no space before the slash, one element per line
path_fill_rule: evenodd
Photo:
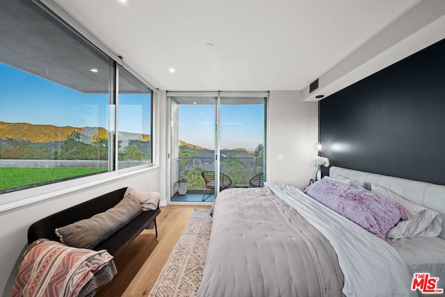
<path fill-rule="evenodd" d="M 172 202 L 211 202 L 264 172 L 267 93 L 169 92 L 168 98 Z"/>

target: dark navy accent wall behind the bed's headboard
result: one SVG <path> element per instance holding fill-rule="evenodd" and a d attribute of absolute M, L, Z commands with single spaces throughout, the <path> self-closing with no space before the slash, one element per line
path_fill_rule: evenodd
<path fill-rule="evenodd" d="M 332 166 L 445 185 L 445 40 L 323 99 L 321 141 Z"/>

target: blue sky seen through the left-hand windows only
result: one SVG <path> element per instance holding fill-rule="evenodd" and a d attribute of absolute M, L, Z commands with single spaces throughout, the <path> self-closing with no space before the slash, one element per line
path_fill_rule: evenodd
<path fill-rule="evenodd" d="M 120 95 L 120 131 L 150 134 L 150 95 Z M 141 104 L 141 102 L 147 102 Z M 0 63 L 0 121 L 108 127 L 108 93 L 84 94 Z M 149 115 L 148 118 L 143 118 Z"/>

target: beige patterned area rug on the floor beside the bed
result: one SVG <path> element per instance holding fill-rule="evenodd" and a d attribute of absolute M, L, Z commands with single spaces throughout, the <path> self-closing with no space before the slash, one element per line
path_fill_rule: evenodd
<path fill-rule="evenodd" d="M 202 280 L 211 231 L 207 210 L 193 211 L 186 228 L 162 268 L 150 297 L 196 296 Z"/>

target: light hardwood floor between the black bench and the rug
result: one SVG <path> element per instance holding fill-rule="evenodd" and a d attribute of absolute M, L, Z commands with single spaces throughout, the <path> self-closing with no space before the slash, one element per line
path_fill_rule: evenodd
<path fill-rule="evenodd" d="M 210 209 L 210 206 L 161 207 L 161 214 L 156 218 L 158 237 L 154 230 L 144 230 L 116 255 L 118 274 L 95 296 L 148 296 L 194 209 Z"/>

